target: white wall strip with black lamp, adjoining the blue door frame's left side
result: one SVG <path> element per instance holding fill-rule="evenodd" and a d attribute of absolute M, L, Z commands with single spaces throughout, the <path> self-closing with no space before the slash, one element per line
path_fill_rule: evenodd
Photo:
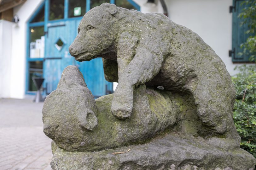
<path fill-rule="evenodd" d="M 25 97 L 27 21 L 43 0 L 27 0 L 14 8 L 19 23 L 12 27 L 10 98 Z"/>

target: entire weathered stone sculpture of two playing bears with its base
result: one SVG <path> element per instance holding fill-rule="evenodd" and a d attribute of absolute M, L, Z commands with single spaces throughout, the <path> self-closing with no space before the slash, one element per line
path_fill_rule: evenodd
<path fill-rule="evenodd" d="M 53 169 L 254 168 L 232 120 L 230 75 L 197 34 L 108 3 L 86 13 L 78 32 L 70 54 L 103 57 L 105 78 L 119 84 L 94 100 L 78 67 L 63 71 L 43 108 Z"/>

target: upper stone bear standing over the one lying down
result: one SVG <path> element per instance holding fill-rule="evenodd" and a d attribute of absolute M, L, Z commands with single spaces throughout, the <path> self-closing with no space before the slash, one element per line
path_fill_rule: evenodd
<path fill-rule="evenodd" d="M 192 95 L 203 125 L 240 141 L 232 119 L 236 91 L 224 62 L 164 14 L 104 3 L 84 15 L 69 52 L 77 61 L 103 58 L 106 79 L 119 83 L 111 106 L 116 118 L 132 116 L 135 87 L 160 86 Z"/>

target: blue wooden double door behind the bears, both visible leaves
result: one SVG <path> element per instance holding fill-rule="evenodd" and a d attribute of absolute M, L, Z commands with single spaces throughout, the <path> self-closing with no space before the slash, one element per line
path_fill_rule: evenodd
<path fill-rule="evenodd" d="M 61 73 L 68 65 L 76 65 L 95 97 L 112 93 L 112 83 L 104 78 L 101 58 L 78 62 L 70 56 L 68 47 L 77 35 L 80 20 L 48 23 L 45 36 L 44 78 L 47 93 L 57 88 Z"/>

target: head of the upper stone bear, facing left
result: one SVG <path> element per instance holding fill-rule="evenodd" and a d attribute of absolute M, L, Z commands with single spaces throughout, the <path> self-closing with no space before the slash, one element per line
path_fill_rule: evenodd
<path fill-rule="evenodd" d="M 77 61 L 90 61 L 108 53 L 118 34 L 115 27 L 118 12 L 119 8 L 109 3 L 88 11 L 79 24 L 77 37 L 69 46 L 71 56 Z"/>

